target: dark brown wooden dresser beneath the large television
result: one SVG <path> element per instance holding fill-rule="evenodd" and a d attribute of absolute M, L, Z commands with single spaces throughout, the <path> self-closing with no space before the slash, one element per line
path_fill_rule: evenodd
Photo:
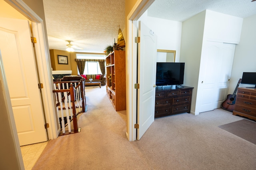
<path fill-rule="evenodd" d="M 155 118 L 178 113 L 190 113 L 193 87 L 156 87 Z"/>

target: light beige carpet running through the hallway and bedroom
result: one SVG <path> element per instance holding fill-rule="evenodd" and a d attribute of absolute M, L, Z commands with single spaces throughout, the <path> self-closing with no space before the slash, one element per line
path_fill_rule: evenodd
<path fill-rule="evenodd" d="M 86 88 L 81 132 L 50 140 L 33 170 L 255 170 L 256 145 L 220 129 L 243 119 L 224 109 L 155 119 L 140 141 L 126 138 L 126 111 L 106 87 Z"/>

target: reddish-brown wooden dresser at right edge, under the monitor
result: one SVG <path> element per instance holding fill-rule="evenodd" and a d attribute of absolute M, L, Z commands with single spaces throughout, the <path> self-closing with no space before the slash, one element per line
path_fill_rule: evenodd
<path fill-rule="evenodd" d="M 256 120 L 256 88 L 238 88 L 233 115 Z"/>

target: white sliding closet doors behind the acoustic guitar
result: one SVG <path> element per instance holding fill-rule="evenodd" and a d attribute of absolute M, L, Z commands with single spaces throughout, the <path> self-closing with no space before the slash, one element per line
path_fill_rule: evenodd
<path fill-rule="evenodd" d="M 199 113 L 220 108 L 228 95 L 235 44 L 206 41 L 198 81 Z"/>

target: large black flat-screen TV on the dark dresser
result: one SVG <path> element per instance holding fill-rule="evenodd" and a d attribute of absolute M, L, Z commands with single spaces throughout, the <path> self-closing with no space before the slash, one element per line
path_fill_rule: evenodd
<path fill-rule="evenodd" d="M 156 63 L 156 86 L 182 85 L 185 63 Z"/>

